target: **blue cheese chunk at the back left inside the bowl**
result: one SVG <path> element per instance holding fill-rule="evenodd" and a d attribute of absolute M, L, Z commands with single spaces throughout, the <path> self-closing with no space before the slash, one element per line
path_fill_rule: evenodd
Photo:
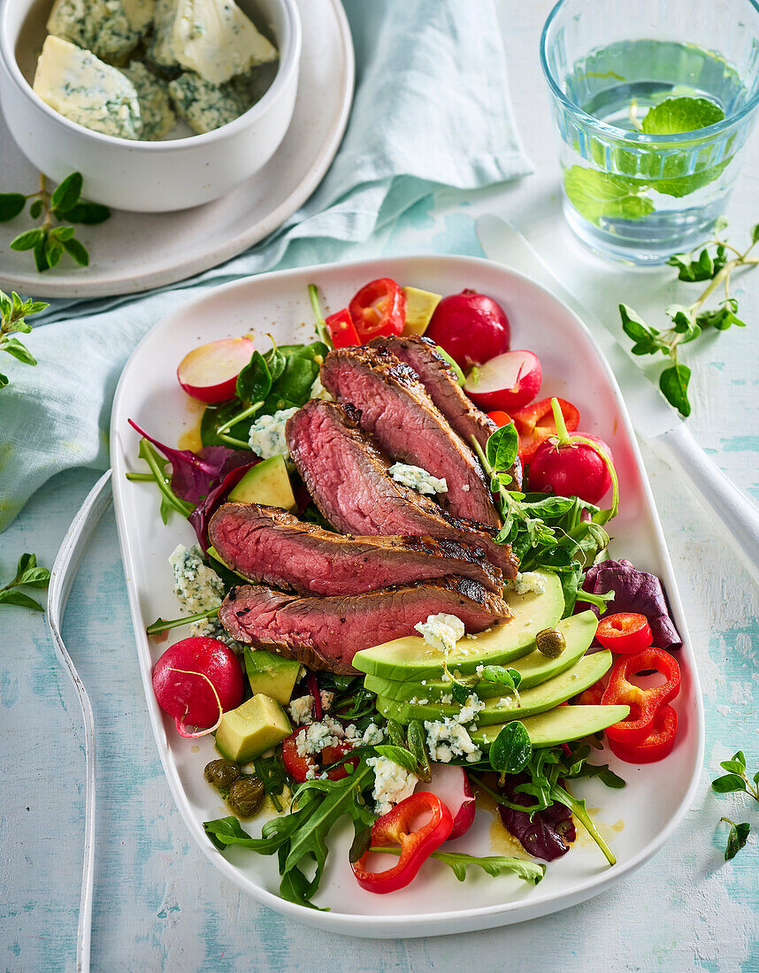
<path fill-rule="evenodd" d="M 101 60 L 123 63 L 149 24 L 150 20 L 141 31 L 135 29 L 122 0 L 55 0 L 48 31 Z"/>

